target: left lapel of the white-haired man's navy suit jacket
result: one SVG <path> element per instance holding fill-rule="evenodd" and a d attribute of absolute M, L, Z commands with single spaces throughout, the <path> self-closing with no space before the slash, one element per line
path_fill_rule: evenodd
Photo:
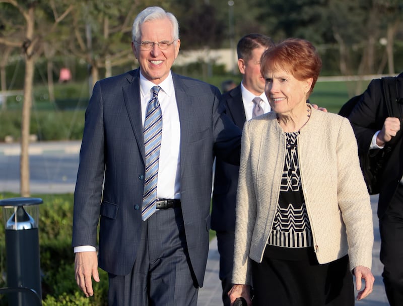
<path fill-rule="evenodd" d="M 135 134 L 135 139 L 145 161 L 144 134 L 142 124 L 142 107 L 140 101 L 140 73 L 139 69 L 133 71 L 132 78 L 127 78 L 129 84 L 122 87 L 124 104 L 130 120 L 131 128 Z"/>

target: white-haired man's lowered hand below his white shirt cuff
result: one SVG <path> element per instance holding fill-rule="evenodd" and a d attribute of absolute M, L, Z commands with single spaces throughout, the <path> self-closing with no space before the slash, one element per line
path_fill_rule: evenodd
<path fill-rule="evenodd" d="M 92 279 L 99 282 L 97 253 L 77 252 L 75 259 L 75 276 L 77 285 L 83 290 L 85 296 L 93 296 Z"/>

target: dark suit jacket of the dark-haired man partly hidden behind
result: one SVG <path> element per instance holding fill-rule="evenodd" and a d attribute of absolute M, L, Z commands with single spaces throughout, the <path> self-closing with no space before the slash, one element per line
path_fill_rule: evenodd
<path fill-rule="evenodd" d="M 242 130 L 246 115 L 242 101 L 241 85 L 224 93 L 220 103 L 226 109 L 226 114 L 231 121 Z M 235 231 L 238 172 L 238 166 L 217 158 L 211 215 L 211 228 L 215 231 Z"/>

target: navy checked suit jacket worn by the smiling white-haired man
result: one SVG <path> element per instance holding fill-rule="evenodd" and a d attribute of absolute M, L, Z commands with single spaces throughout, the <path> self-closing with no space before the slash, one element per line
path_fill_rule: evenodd
<path fill-rule="evenodd" d="M 202 286 L 214 156 L 239 164 L 241 131 L 219 108 L 217 87 L 174 73 L 172 77 L 181 132 L 181 208 L 190 265 Z M 96 246 L 100 218 L 99 267 L 126 275 L 136 260 L 143 222 L 145 148 L 139 69 L 98 81 L 85 117 L 72 244 Z"/>

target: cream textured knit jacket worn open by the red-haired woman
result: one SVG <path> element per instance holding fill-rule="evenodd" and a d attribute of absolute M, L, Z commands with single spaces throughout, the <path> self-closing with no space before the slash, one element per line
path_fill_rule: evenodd
<path fill-rule="evenodd" d="M 311 108 L 298 136 L 298 160 L 319 264 L 349 254 L 351 270 L 371 268 L 373 225 L 357 142 L 348 119 Z M 286 136 L 270 112 L 247 121 L 236 207 L 234 284 L 250 284 L 272 229 L 285 161 Z"/>

